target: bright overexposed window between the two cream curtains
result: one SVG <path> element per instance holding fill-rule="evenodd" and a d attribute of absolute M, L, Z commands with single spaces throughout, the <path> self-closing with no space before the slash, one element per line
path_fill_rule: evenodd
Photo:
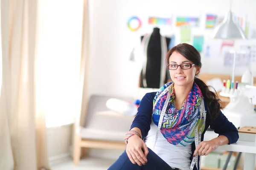
<path fill-rule="evenodd" d="M 39 4 L 37 108 L 47 127 L 74 122 L 79 111 L 83 0 Z"/>

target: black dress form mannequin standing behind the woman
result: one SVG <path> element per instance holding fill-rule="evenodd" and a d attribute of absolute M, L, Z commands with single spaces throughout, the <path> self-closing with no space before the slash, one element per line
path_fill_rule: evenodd
<path fill-rule="evenodd" d="M 143 41 L 144 36 L 141 36 L 141 41 Z M 165 37 L 166 40 L 166 48 L 168 49 L 169 43 L 171 41 L 170 38 Z M 148 42 L 147 48 L 147 62 L 145 69 L 145 80 L 147 86 L 143 85 L 143 71 L 140 74 L 140 87 L 141 88 L 160 88 L 161 84 L 165 84 L 170 80 L 169 71 L 166 68 L 166 64 L 164 67 L 166 68 L 165 81 L 160 83 L 161 77 L 161 62 L 163 59 L 165 60 L 166 54 L 164 54 L 164 58 L 162 58 L 162 50 L 161 50 L 161 35 L 160 28 L 154 28 L 151 34 L 151 37 Z M 144 83 L 145 84 L 145 83 Z"/>

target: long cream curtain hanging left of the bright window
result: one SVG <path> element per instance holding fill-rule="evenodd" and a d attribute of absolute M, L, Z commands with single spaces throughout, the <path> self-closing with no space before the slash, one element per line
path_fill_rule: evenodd
<path fill-rule="evenodd" d="M 44 114 L 36 109 L 37 17 L 37 0 L 1 0 L 0 170 L 50 169 Z"/>

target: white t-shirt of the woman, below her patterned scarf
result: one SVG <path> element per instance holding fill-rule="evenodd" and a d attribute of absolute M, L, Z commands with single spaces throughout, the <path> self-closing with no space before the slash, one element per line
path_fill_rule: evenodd
<path fill-rule="evenodd" d="M 157 125 L 151 121 L 150 130 L 144 140 L 147 147 L 151 150 L 153 150 L 154 147 L 156 133 Z M 153 151 L 171 167 L 176 167 L 181 170 L 189 170 L 190 156 L 192 154 L 191 147 L 192 144 L 187 146 L 170 144 L 159 131 L 158 139 Z"/>

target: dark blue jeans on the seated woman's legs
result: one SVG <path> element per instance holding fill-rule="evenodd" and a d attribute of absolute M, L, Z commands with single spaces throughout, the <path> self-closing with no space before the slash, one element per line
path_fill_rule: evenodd
<path fill-rule="evenodd" d="M 176 170 L 177 168 L 170 167 L 163 159 L 157 156 L 151 149 L 148 148 L 147 163 L 139 166 L 131 163 L 126 151 L 108 168 L 108 170 Z M 178 169 L 177 169 L 178 170 Z"/>

